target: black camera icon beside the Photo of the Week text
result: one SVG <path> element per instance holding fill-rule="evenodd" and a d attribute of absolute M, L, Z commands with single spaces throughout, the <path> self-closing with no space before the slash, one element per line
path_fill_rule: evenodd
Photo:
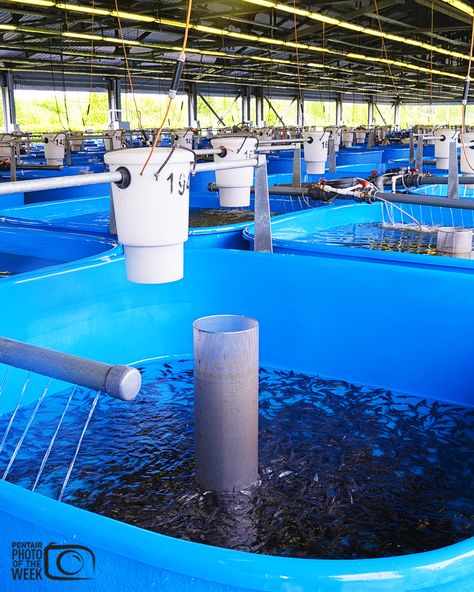
<path fill-rule="evenodd" d="M 49 543 L 44 549 L 44 574 L 50 580 L 91 580 L 95 555 L 81 545 Z"/>

